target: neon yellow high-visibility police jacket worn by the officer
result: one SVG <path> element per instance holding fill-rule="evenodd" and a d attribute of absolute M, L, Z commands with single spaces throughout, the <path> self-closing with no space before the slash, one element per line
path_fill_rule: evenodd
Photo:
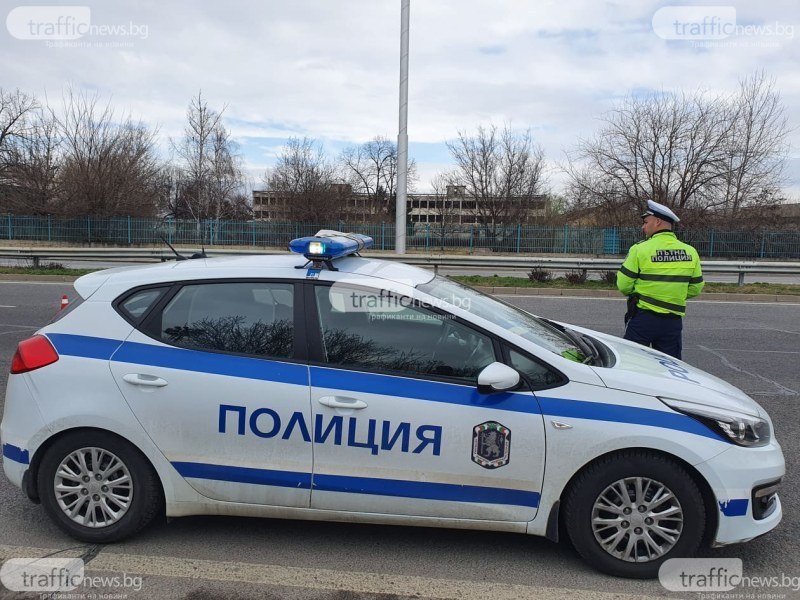
<path fill-rule="evenodd" d="M 617 288 L 639 295 L 637 306 L 657 313 L 686 314 L 686 299 L 703 289 L 700 257 L 672 231 L 659 231 L 631 246 L 617 272 Z"/>

